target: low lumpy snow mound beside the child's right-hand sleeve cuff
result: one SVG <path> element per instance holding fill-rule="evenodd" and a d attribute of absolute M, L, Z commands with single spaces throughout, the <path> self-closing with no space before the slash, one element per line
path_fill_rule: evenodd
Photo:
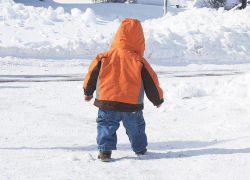
<path fill-rule="evenodd" d="M 167 101 L 185 100 L 191 98 L 225 97 L 233 99 L 250 98 L 250 73 L 239 75 L 231 80 L 220 82 L 204 79 L 203 81 L 178 82 L 162 84 L 164 98 Z"/>

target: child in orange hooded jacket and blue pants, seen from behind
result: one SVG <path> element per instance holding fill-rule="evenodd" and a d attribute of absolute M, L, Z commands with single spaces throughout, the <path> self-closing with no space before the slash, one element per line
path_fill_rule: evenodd
<path fill-rule="evenodd" d="M 137 155 L 147 151 L 142 113 L 144 92 L 156 107 L 164 100 L 157 75 L 143 58 L 144 50 L 140 21 L 126 18 L 110 50 L 96 56 L 84 79 L 85 101 L 90 101 L 96 90 L 98 158 L 102 161 L 110 161 L 112 150 L 116 150 L 120 121 L 126 128 L 133 151 Z"/>

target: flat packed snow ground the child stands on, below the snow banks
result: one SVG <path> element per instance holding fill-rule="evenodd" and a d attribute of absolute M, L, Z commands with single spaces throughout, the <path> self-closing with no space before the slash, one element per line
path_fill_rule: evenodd
<path fill-rule="evenodd" d="M 250 176 L 249 64 L 153 65 L 165 103 L 157 109 L 145 98 L 148 153 L 134 155 L 121 125 L 118 150 L 111 163 L 102 163 L 95 142 L 97 108 L 84 102 L 82 81 L 56 77 L 83 78 L 89 60 L 0 62 L 0 79 L 56 80 L 0 83 L 1 180 Z M 211 73 L 220 75 L 196 76 Z"/>

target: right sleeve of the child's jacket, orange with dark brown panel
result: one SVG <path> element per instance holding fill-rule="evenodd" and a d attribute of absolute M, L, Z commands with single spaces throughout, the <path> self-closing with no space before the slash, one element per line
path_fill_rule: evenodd
<path fill-rule="evenodd" d="M 146 95 L 155 106 L 160 105 L 164 102 L 164 99 L 158 77 L 145 59 L 142 63 L 141 75 Z"/>

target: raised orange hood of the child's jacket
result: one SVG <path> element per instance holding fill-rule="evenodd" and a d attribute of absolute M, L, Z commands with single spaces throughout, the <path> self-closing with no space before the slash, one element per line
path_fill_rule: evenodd
<path fill-rule="evenodd" d="M 124 19 L 115 35 L 111 48 L 126 48 L 143 56 L 145 39 L 141 22 L 137 19 Z"/>

